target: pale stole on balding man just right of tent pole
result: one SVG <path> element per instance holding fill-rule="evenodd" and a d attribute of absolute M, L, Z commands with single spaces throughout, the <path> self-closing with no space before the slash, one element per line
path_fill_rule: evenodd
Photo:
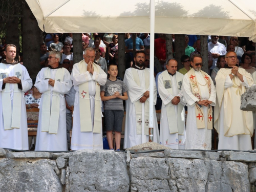
<path fill-rule="evenodd" d="M 163 84 L 164 88 L 168 91 L 168 93 L 173 95 L 173 88 L 172 88 L 172 82 L 170 79 L 170 75 L 167 70 L 165 70 L 162 73 L 163 76 Z M 176 83 L 177 88 L 179 87 L 179 83 L 183 81 L 183 75 L 179 72 L 176 73 Z M 181 91 L 181 89 L 178 89 L 178 93 Z M 172 102 L 169 102 L 165 105 L 166 112 L 167 112 L 167 119 L 168 119 L 168 126 L 170 134 L 178 133 L 178 135 L 184 135 L 184 125 L 185 125 L 185 119 L 184 119 L 184 105 L 179 103 L 177 105 L 177 118 L 176 118 L 176 111 L 174 108 L 174 105 Z"/>

